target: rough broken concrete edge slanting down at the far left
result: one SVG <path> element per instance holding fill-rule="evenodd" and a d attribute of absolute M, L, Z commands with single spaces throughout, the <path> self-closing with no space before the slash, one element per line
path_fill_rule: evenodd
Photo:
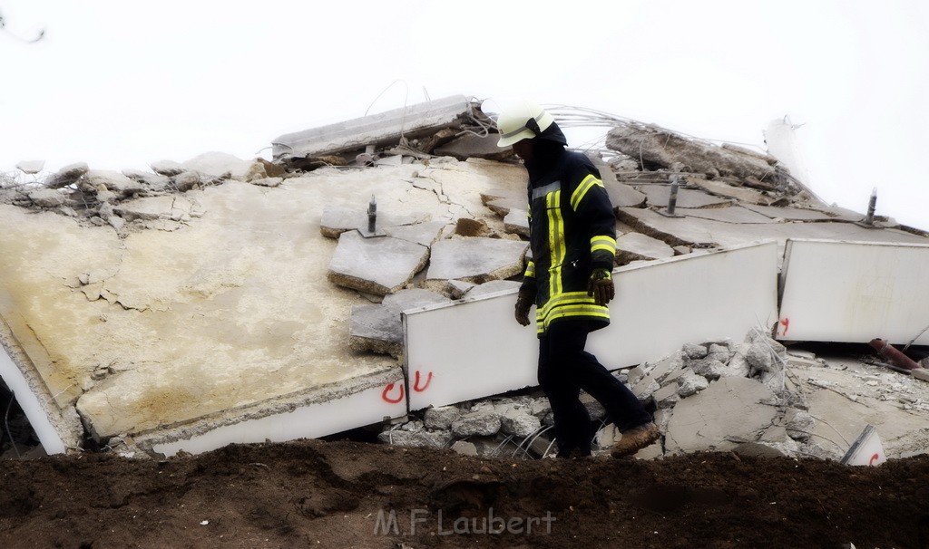
<path fill-rule="evenodd" d="M 11 389 L 20 408 L 36 431 L 46 453 L 65 453 L 80 449 L 84 439 L 84 425 L 72 404 L 59 406 L 55 395 L 36 371 L 32 359 L 22 349 L 20 341 L 0 315 L 0 345 L 3 346 L 12 368 L 3 367 L 0 360 L 0 375 Z M 2 358 L 2 357 L 0 357 Z M 6 371 L 5 371 L 6 370 Z M 28 389 L 28 394 L 23 394 Z"/>

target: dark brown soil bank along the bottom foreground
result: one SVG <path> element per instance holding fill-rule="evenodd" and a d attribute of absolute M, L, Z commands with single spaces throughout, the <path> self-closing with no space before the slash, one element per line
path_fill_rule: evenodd
<path fill-rule="evenodd" d="M 929 546 L 926 455 L 507 460 L 300 440 L 0 474 L 0 547 Z"/>

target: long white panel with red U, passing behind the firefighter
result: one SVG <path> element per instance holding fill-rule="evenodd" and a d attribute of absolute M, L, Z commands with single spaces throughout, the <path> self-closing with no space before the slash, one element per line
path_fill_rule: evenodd
<path fill-rule="evenodd" d="M 591 334 L 588 351 L 616 369 L 688 341 L 741 340 L 777 321 L 777 275 L 774 241 L 622 267 L 612 322 Z M 517 324 L 515 301 L 507 291 L 404 313 L 411 410 L 538 385 L 535 326 Z"/>

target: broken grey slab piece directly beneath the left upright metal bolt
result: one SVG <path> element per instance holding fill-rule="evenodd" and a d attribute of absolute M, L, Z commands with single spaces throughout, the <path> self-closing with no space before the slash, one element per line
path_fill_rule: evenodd
<path fill-rule="evenodd" d="M 384 296 L 409 284 L 428 259 L 425 246 L 390 236 L 365 238 L 352 231 L 339 236 L 327 276 L 333 284 Z"/>

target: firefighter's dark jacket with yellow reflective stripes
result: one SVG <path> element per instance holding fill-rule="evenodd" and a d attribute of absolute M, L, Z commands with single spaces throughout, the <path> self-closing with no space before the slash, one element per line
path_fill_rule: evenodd
<path fill-rule="evenodd" d="M 600 172 L 561 147 L 546 146 L 533 158 L 527 166 L 532 259 L 520 291 L 535 296 L 538 333 L 565 319 L 607 326 L 608 308 L 587 296 L 594 269 L 611 272 L 616 256 L 616 216 Z"/>

